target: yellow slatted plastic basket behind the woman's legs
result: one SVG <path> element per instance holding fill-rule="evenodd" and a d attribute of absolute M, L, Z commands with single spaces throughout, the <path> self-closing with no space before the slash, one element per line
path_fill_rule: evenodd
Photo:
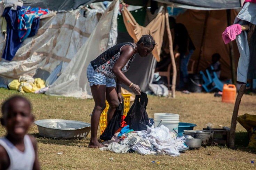
<path fill-rule="evenodd" d="M 125 97 L 124 105 L 125 108 L 123 109 L 123 115 L 126 116 L 129 109 L 130 109 L 130 97 L 131 94 L 122 94 Z M 101 128 L 101 134 L 107 127 L 107 111 L 109 110 L 109 103 L 106 101 L 106 108 L 101 113 L 101 118 L 99 119 L 99 127 Z"/>

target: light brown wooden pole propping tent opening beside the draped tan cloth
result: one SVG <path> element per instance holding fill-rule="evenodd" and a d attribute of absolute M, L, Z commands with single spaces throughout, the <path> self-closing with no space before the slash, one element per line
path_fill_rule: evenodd
<path fill-rule="evenodd" d="M 173 39 L 171 37 L 171 31 L 170 31 L 170 26 L 169 26 L 169 16 L 168 16 L 166 5 L 165 5 L 165 23 L 166 23 L 166 31 L 168 34 L 168 40 L 169 40 L 169 51 L 171 54 L 170 55 L 171 56 L 171 64 L 173 67 L 173 80 L 171 83 L 171 96 L 173 98 L 175 98 L 177 69 L 176 69 L 176 63 L 175 63 L 175 58 L 174 58 L 174 53 L 173 53 Z"/>

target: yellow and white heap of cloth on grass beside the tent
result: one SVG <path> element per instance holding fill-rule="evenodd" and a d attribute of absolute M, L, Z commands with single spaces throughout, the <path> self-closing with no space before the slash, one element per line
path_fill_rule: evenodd
<path fill-rule="evenodd" d="M 22 76 L 8 84 L 10 90 L 18 90 L 19 92 L 40 93 L 40 90 L 47 88 L 45 80 L 41 78 L 32 78 L 31 76 Z"/>

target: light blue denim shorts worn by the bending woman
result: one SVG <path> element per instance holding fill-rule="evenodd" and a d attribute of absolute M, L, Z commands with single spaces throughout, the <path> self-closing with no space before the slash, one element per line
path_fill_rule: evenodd
<path fill-rule="evenodd" d="M 97 73 L 91 63 L 87 67 L 87 78 L 90 86 L 95 85 L 106 85 L 106 87 L 115 87 L 117 84 L 115 83 L 114 78 L 105 77 L 102 74 Z"/>

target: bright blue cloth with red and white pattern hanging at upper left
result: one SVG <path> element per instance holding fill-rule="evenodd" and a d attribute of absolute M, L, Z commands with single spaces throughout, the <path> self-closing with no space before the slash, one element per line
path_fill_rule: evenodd
<path fill-rule="evenodd" d="M 34 31 L 31 32 L 31 30 L 35 30 L 35 29 L 31 29 L 32 26 L 34 26 L 33 24 L 34 20 L 39 19 L 40 16 L 46 15 L 48 13 L 49 13 L 48 9 L 31 8 L 31 7 L 26 7 L 24 9 L 21 9 L 18 17 L 18 35 L 21 42 L 24 41 L 27 37 L 35 35 L 36 32 Z M 39 22 L 39 20 L 36 20 L 36 21 Z M 39 24 L 36 24 L 36 25 L 39 26 Z"/>

